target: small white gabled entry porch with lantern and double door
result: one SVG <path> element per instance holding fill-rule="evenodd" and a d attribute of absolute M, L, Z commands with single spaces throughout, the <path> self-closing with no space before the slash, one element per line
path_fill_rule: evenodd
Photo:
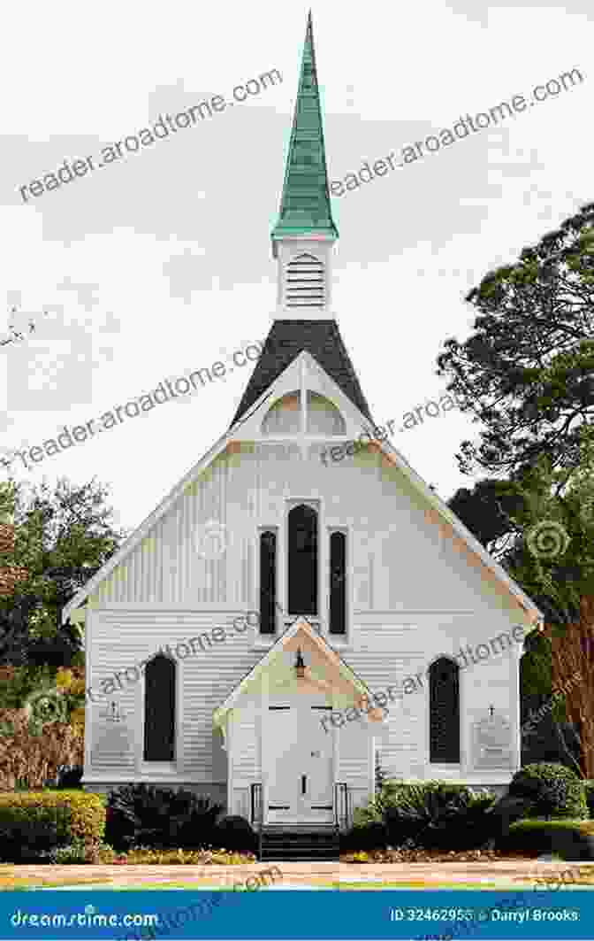
<path fill-rule="evenodd" d="M 344 718 L 371 698 L 324 637 L 296 621 L 215 710 L 214 726 L 227 749 L 227 813 L 250 821 L 260 834 L 260 852 L 263 834 L 279 842 L 290 834 L 303 837 L 291 858 L 305 853 L 305 836 L 310 845 L 314 835 L 336 842 L 354 807 L 373 795 L 369 724 L 381 722 L 383 712 Z M 330 721 L 335 710 L 338 723 Z"/>

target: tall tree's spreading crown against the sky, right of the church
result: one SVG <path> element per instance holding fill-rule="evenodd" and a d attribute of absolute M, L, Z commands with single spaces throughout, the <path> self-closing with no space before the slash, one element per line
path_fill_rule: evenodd
<path fill-rule="evenodd" d="M 577 467 L 594 432 L 594 203 L 487 274 L 466 300 L 472 335 L 437 359 L 463 411 L 484 424 L 461 443 L 462 472 L 520 475 L 546 455 Z"/>

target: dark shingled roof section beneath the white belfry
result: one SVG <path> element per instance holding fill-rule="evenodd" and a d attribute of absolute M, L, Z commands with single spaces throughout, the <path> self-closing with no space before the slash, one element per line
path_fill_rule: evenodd
<path fill-rule="evenodd" d="M 302 350 L 307 350 L 352 404 L 373 421 L 336 320 L 275 320 L 231 428 Z"/>

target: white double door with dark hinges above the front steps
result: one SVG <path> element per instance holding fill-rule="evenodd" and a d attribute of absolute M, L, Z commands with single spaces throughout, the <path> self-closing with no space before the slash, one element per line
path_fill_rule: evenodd
<path fill-rule="evenodd" d="M 269 705 L 266 822 L 334 820 L 334 733 L 321 724 L 328 714 L 325 707 L 299 699 Z"/>

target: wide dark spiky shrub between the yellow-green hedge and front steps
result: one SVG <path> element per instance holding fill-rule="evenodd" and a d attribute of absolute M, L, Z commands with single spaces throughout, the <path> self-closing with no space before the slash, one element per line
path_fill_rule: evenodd
<path fill-rule="evenodd" d="M 116 849 L 208 845 L 222 809 L 189 790 L 126 785 L 109 795 L 105 839 Z"/>

